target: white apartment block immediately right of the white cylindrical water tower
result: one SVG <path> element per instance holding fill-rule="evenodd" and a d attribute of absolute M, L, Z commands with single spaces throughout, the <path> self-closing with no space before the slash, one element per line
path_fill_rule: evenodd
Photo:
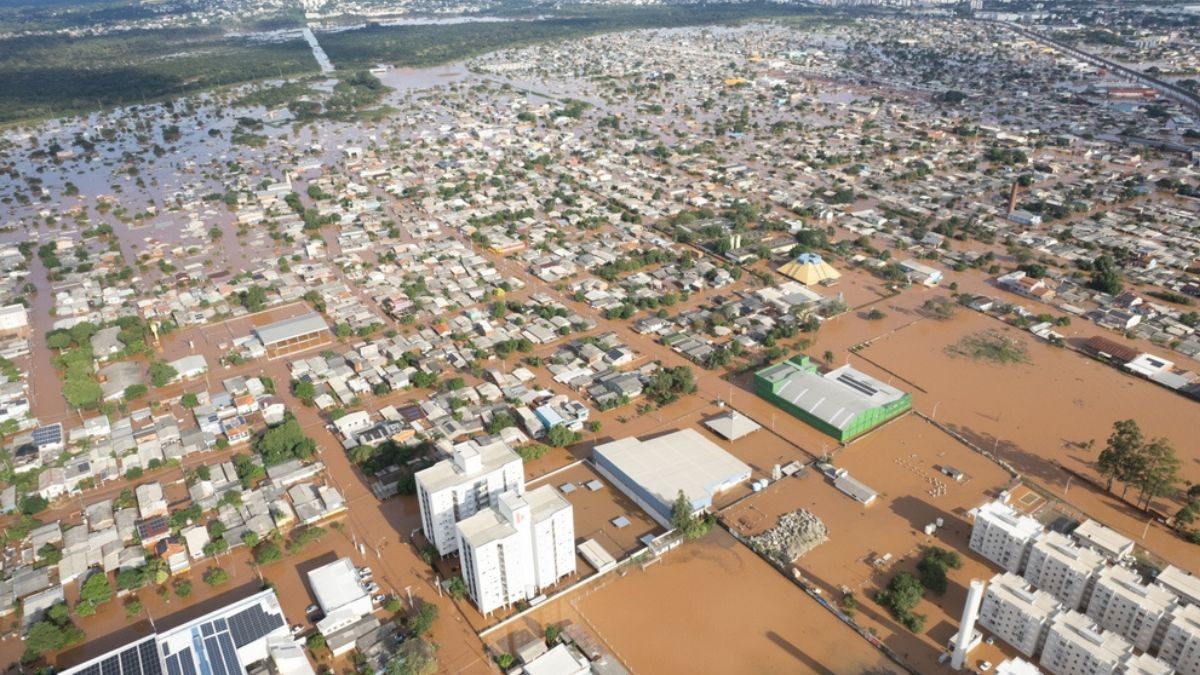
<path fill-rule="evenodd" d="M 979 625 L 1016 651 L 1032 657 L 1045 643 L 1050 620 L 1058 613 L 1058 601 L 1045 591 L 1034 591 L 1012 572 L 991 578 L 979 610 Z"/>

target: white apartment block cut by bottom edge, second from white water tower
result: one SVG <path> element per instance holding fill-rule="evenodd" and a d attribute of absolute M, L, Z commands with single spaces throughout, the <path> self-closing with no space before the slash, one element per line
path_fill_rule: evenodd
<path fill-rule="evenodd" d="M 1051 675 L 1115 675 L 1130 655 L 1129 640 L 1102 631 L 1078 611 L 1061 611 L 1050 622 L 1038 664 Z"/>

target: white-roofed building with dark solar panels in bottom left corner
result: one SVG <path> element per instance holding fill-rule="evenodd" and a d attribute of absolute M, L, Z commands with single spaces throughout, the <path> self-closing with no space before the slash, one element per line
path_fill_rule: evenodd
<path fill-rule="evenodd" d="M 158 626 L 170 617 L 157 620 Z M 276 645 L 294 644 L 275 591 L 230 603 L 68 668 L 62 675 L 246 675 L 274 657 Z M 254 668 L 258 671 L 257 667 Z M 276 667 L 280 675 L 312 675 L 307 659 Z"/>

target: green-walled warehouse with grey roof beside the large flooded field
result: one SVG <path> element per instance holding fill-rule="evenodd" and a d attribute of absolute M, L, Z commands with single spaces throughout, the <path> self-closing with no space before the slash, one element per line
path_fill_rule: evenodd
<path fill-rule="evenodd" d="M 760 370 L 754 387 L 763 399 L 844 443 L 912 407 L 912 394 L 848 365 L 822 375 L 803 354 Z"/>

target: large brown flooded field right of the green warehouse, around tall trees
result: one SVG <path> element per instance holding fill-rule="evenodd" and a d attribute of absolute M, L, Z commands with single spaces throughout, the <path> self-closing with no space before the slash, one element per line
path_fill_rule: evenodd
<path fill-rule="evenodd" d="M 1000 330 L 1021 341 L 1028 362 L 992 365 L 947 353 L 964 336 L 983 330 Z M 1082 335 L 1092 334 L 1094 329 L 1082 328 Z M 1196 480 L 1200 454 L 1189 442 L 1195 426 L 1193 401 L 968 310 L 948 321 L 911 323 L 874 342 L 851 363 L 884 380 L 911 383 L 914 408 L 995 452 L 1056 494 L 1069 490 L 1067 501 L 1171 562 L 1200 571 L 1189 544 L 1158 525 L 1147 531 L 1147 514 L 1086 482 L 1068 484 L 1070 473 L 1063 471 L 1096 477 L 1092 465 L 1112 423 L 1133 418 L 1147 437 L 1168 438 L 1183 460 L 1183 479 Z M 1177 507 L 1164 500 L 1160 508 L 1174 513 Z"/>

